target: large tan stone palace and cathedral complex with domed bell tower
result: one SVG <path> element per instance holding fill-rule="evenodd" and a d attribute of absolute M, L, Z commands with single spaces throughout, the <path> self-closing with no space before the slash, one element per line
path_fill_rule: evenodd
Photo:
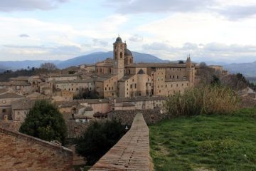
<path fill-rule="evenodd" d="M 173 95 L 193 87 L 196 65 L 186 63 L 134 63 L 127 43 L 118 37 L 113 58 L 95 64 L 95 91 L 104 98 Z"/>

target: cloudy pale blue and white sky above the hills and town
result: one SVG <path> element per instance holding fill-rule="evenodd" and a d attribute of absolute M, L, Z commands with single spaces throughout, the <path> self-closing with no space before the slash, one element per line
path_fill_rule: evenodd
<path fill-rule="evenodd" d="M 131 51 L 193 61 L 256 61 L 255 0 L 1 0 L 0 61 Z"/>

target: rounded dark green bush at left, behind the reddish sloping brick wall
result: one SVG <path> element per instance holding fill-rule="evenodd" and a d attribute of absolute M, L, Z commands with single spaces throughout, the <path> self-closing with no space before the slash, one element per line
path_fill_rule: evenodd
<path fill-rule="evenodd" d="M 58 108 L 47 100 L 37 100 L 19 129 L 42 140 L 64 142 L 67 127 Z"/>

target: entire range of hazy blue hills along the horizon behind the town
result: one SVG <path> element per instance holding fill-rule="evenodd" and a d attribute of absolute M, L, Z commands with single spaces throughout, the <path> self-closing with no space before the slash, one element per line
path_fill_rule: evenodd
<path fill-rule="evenodd" d="M 146 62 L 146 63 L 166 63 L 170 62 L 168 60 L 162 60 L 156 56 L 152 56 L 146 53 L 132 52 L 134 56 L 134 62 Z M 58 68 L 67 68 L 69 66 L 79 66 L 80 64 L 87 63 L 97 63 L 98 61 L 103 61 L 105 58 L 112 58 L 112 51 L 109 52 L 96 52 L 90 53 L 85 56 L 78 56 L 65 61 L 0 61 L 0 72 L 6 69 L 16 70 L 21 68 L 40 67 L 41 63 L 51 62 L 55 63 Z M 253 63 L 223 63 L 218 61 L 206 61 L 208 65 L 221 65 L 224 66 L 226 70 L 230 73 L 242 73 L 246 77 L 256 77 L 256 61 Z"/>

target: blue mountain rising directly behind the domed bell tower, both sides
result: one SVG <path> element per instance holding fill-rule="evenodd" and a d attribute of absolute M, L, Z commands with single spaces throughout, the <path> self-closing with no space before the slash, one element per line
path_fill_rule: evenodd
<path fill-rule="evenodd" d="M 149 63 L 169 62 L 146 53 L 132 52 L 132 56 L 134 57 L 135 62 L 149 62 Z M 92 64 L 98 61 L 103 61 L 106 58 L 113 58 L 113 52 L 112 51 L 97 52 L 97 53 L 91 53 L 85 56 L 78 56 L 66 61 L 62 61 L 58 63 L 57 66 L 58 68 L 67 68 L 68 66 L 78 66 L 82 63 Z"/>

